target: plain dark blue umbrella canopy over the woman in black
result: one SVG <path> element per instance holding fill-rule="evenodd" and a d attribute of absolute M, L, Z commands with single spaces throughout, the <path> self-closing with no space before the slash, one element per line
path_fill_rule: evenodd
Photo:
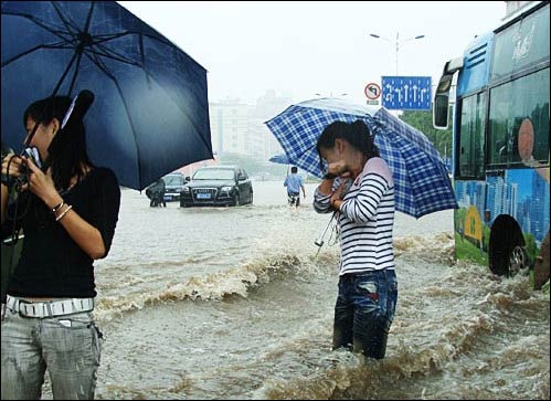
<path fill-rule="evenodd" d="M 212 159 L 206 71 L 115 1 L 2 1 L 2 140 L 29 104 L 92 91 L 88 155 L 141 190 Z"/>

